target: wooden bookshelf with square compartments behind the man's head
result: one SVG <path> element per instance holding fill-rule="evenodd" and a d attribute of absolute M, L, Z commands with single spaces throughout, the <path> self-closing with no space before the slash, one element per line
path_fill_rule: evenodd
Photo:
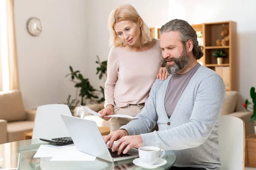
<path fill-rule="evenodd" d="M 237 89 L 237 42 L 236 42 L 236 22 L 216 22 L 192 25 L 195 31 L 202 32 L 202 45 L 204 46 L 204 56 L 200 59 L 201 64 L 216 71 L 224 81 L 226 91 L 236 91 Z M 228 29 L 229 43 L 217 45 L 217 40 L 222 40 L 223 28 Z M 223 58 L 223 63 L 219 64 L 213 52 L 222 50 L 227 55 Z"/>

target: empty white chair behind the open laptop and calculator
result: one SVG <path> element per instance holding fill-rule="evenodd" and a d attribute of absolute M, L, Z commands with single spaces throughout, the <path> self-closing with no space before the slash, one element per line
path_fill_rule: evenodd
<path fill-rule="evenodd" d="M 70 136 L 61 119 L 61 114 L 72 116 L 67 105 L 52 104 L 39 106 L 35 113 L 32 139 Z"/>

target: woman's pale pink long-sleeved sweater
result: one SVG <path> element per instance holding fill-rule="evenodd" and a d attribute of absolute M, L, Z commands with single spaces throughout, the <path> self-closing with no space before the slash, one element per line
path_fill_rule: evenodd
<path fill-rule="evenodd" d="M 148 98 L 163 59 L 160 41 L 141 52 L 113 46 L 108 56 L 105 104 L 114 108 L 144 103 Z"/>

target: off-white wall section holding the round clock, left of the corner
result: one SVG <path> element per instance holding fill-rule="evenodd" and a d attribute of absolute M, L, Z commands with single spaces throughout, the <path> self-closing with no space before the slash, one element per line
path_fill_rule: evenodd
<path fill-rule="evenodd" d="M 86 0 L 15 0 L 17 59 L 25 108 L 66 102 L 75 95 L 69 65 L 87 76 Z M 43 23 L 39 37 L 26 31 L 29 17 Z"/>

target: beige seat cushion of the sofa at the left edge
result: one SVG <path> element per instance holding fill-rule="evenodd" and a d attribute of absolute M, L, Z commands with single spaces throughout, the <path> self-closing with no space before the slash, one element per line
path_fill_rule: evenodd
<path fill-rule="evenodd" d="M 33 121 L 9 122 L 7 124 L 8 142 L 24 140 L 24 132 L 32 131 Z"/>

